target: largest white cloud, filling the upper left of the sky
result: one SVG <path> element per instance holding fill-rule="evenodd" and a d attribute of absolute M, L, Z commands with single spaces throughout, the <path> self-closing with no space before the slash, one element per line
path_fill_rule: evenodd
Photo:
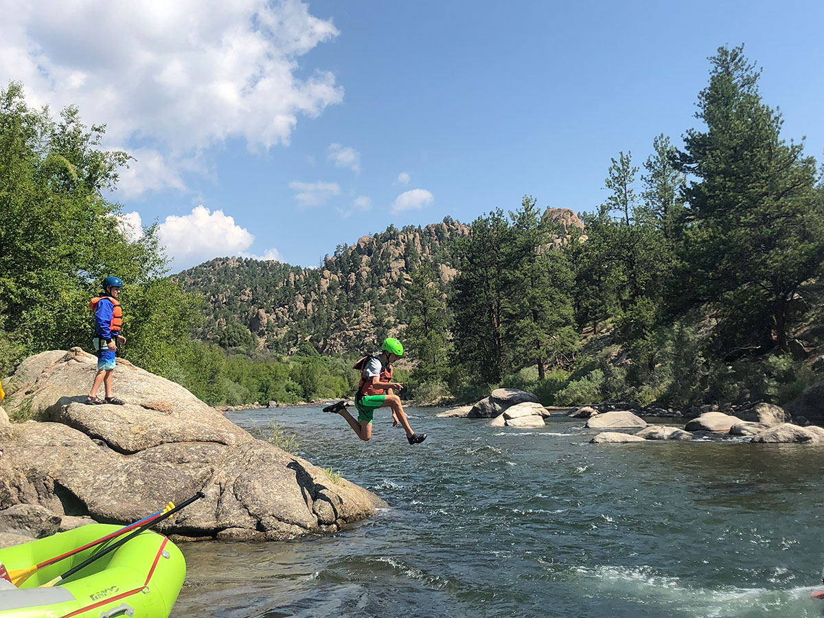
<path fill-rule="evenodd" d="M 288 144 L 299 116 L 343 100 L 333 73 L 303 77 L 302 56 L 338 30 L 299 0 L 0 0 L 0 11 L 0 84 L 22 82 L 53 114 L 77 105 L 86 124 L 106 124 L 104 147 L 139 140 L 130 195 L 182 188 L 181 159 L 227 138 Z"/>

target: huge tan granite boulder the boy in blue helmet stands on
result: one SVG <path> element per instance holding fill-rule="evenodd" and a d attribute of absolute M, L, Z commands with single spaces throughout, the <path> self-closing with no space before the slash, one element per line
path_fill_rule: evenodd
<path fill-rule="evenodd" d="M 73 349 L 28 358 L 12 377 L 4 402 L 12 418 L 44 420 L 0 426 L 0 513 L 34 505 L 56 517 L 129 523 L 202 490 L 205 499 L 160 529 L 263 540 L 336 531 L 385 505 L 126 361 L 115 391 L 127 405 L 82 405 L 95 372 L 96 358 Z"/>

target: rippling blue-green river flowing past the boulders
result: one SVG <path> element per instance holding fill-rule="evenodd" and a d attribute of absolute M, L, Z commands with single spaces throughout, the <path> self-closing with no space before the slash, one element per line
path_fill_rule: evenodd
<path fill-rule="evenodd" d="M 391 508 L 328 536 L 181 544 L 172 618 L 822 616 L 824 447 L 596 445 L 580 419 L 438 411 L 408 410 L 414 447 L 385 410 L 366 443 L 315 408 L 228 413 L 276 420 Z"/>

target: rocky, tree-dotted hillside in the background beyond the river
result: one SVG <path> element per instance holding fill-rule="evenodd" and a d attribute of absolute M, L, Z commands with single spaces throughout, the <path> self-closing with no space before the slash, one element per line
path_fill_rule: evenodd
<path fill-rule="evenodd" d="M 583 222 L 569 208 L 547 208 L 544 217 L 558 224 L 564 241 L 569 227 Z M 377 326 L 399 332 L 405 326 L 396 311 L 421 264 L 430 265 L 447 287 L 457 274 L 456 241 L 469 227 L 445 218 L 426 227 L 389 227 L 338 246 L 317 269 L 275 261 L 222 258 L 176 275 L 186 291 L 204 295 L 210 309 L 199 333 L 225 348 L 297 352 L 311 344 L 321 352 L 373 349 Z"/>

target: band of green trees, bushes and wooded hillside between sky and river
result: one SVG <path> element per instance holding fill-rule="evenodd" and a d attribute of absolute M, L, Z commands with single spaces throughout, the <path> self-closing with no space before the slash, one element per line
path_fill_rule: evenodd
<path fill-rule="evenodd" d="M 583 226 L 526 196 L 468 226 L 391 227 L 320 269 L 235 260 L 231 281 L 219 260 L 167 277 L 157 228 L 130 234 L 108 197 L 129 155 L 101 150 L 104 129 L 78 110 L 51 119 L 11 84 L 0 375 L 30 353 L 87 347 L 88 299 L 117 274 L 124 357 L 213 405 L 351 396 L 352 364 L 386 335 L 404 341 L 400 381 L 425 402 L 512 386 L 555 405 L 745 391 L 784 403 L 824 365 L 824 188 L 758 79 L 742 48 L 719 49 L 697 127 L 681 147 L 651 136 L 643 161 L 616 153 Z"/>

